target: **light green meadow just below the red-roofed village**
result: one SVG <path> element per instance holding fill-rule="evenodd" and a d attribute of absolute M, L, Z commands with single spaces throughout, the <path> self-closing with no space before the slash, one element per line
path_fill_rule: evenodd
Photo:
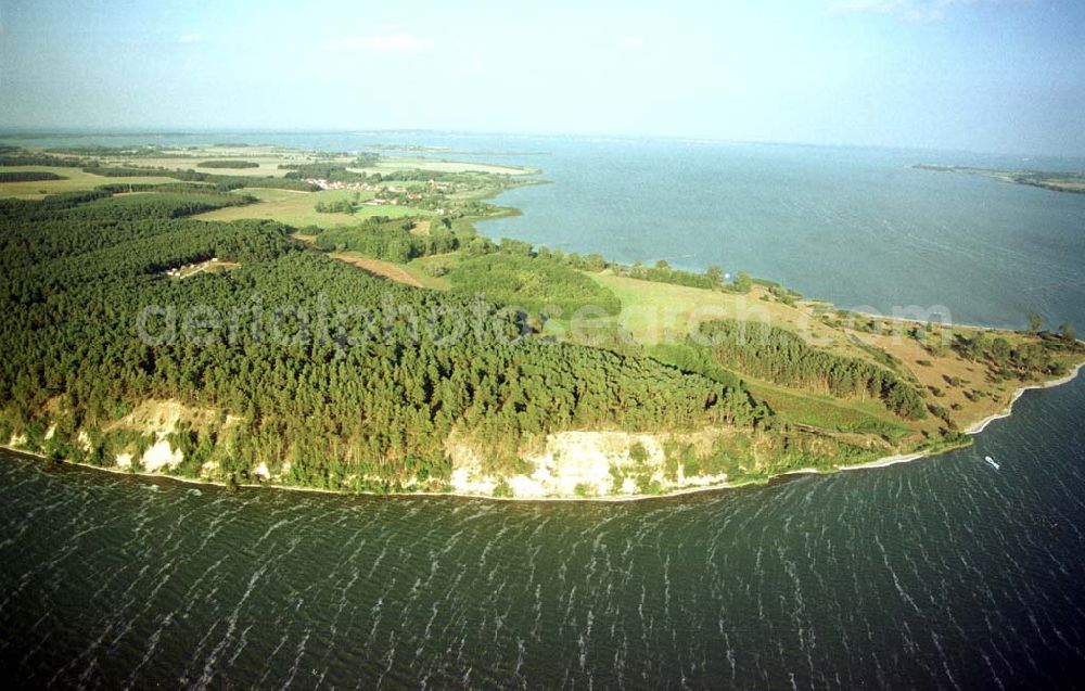
<path fill-rule="evenodd" d="M 243 188 L 238 194 L 247 194 L 260 200 L 247 206 L 220 208 L 194 218 L 201 220 L 230 221 L 240 218 L 264 218 L 278 220 L 294 228 L 335 228 L 354 226 L 372 216 L 403 218 L 406 216 L 427 216 L 430 212 L 407 206 L 366 206 L 362 205 L 356 214 L 319 214 L 314 208 L 318 202 L 331 203 L 353 199 L 352 190 L 323 190 L 320 192 L 292 192 L 289 190 L 259 190 Z M 360 192 L 360 200 L 372 199 L 372 192 Z"/>

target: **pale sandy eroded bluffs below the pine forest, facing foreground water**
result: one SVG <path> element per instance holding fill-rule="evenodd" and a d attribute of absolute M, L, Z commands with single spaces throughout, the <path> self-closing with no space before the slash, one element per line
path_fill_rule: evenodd
<path fill-rule="evenodd" d="M 58 419 L 63 410 L 53 411 Z M 241 420 L 209 408 L 186 406 L 177 400 L 148 400 L 100 432 L 77 430 L 73 447 L 81 450 L 91 464 L 105 470 L 150 475 L 175 475 L 189 479 L 225 483 L 222 466 L 214 460 L 230 453 L 231 439 L 241 433 Z M 52 439 L 52 424 L 44 439 Z M 176 446 L 182 431 L 212 435 L 216 442 L 210 459 L 197 468 L 183 469 L 186 451 Z M 733 432 L 730 432 L 733 434 Z M 712 451 L 724 430 L 704 430 L 682 434 L 638 434 L 623 431 L 564 431 L 534 440 L 519 452 L 520 472 L 496 473 L 487 470 L 483 455 L 470 435 L 456 434 L 446 443 L 451 460 L 448 478 L 399 478 L 386 491 L 452 492 L 457 495 L 510 499 L 633 498 L 659 495 L 694 487 L 726 486 L 727 474 L 695 474 L 673 458 L 675 449 L 693 457 Z M 110 437 L 110 442 L 103 439 Z M 118 442 L 119 439 L 119 442 Z M 13 435 L 8 446 L 31 452 L 47 449 L 30 443 L 26 435 Z M 191 449 L 190 449 L 191 450 Z M 79 459 L 72 459 L 79 460 Z M 85 461 L 86 462 L 86 461 Z M 240 482 L 291 485 L 290 461 L 269 468 L 259 462 L 248 469 Z M 183 471 L 183 472 L 182 472 Z M 347 479 L 353 479 L 348 476 Z M 371 485 L 383 486 L 385 478 L 366 476 Z M 233 482 L 238 482 L 234 477 Z"/>

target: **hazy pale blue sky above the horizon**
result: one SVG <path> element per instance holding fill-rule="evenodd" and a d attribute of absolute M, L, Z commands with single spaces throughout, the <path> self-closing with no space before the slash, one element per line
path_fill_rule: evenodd
<path fill-rule="evenodd" d="M 0 127 L 1085 155 L 1085 2 L 0 0 Z"/>

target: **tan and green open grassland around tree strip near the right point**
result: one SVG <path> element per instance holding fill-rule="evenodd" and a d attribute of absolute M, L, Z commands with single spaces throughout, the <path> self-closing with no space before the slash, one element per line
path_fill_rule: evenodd
<path fill-rule="evenodd" d="M 651 283 L 610 272 L 588 276 L 618 296 L 623 311 L 613 321 L 642 346 L 680 343 L 700 323 L 715 318 L 767 319 L 773 325 L 792 330 L 813 345 L 841 356 L 884 364 L 888 354 L 898 362 L 891 369 L 912 378 L 927 395 L 927 401 L 950 411 L 961 428 L 1001 411 L 1012 400 L 1013 393 L 1027 383 L 1016 378 L 1000 380 L 987 363 L 967 360 L 948 348 L 932 354 L 905 335 L 915 325 L 911 322 L 891 328 L 890 322 L 881 320 L 881 333 L 867 333 L 835 319 L 830 320 L 831 324 L 825 323 L 818 313 L 826 309 L 825 304 L 800 300 L 786 305 L 763 286 L 755 285 L 749 294 L 741 295 Z M 605 331 L 607 321 L 597 319 L 582 323 L 582 333 Z M 974 330 L 955 331 L 971 335 Z M 546 333 L 569 334 L 570 324 L 564 321 L 548 323 Z M 1009 331 L 987 330 L 987 333 L 992 337 L 1004 337 L 1013 346 L 1035 341 L 1035 336 Z M 793 424 L 873 434 L 894 443 L 909 431 L 937 434 L 945 424 L 935 414 L 904 423 L 872 400 L 842 400 L 756 381 L 750 389 L 776 409 L 781 419 Z"/>

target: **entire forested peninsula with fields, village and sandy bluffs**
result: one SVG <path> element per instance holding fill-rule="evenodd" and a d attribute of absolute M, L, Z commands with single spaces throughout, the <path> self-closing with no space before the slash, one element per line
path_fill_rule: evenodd
<path fill-rule="evenodd" d="M 870 316 L 495 242 L 476 223 L 516 212 L 488 200 L 537 170 L 373 149 L 0 152 L 4 446 L 231 487 L 630 499 L 967 446 L 1085 362 L 1038 317 Z"/>

